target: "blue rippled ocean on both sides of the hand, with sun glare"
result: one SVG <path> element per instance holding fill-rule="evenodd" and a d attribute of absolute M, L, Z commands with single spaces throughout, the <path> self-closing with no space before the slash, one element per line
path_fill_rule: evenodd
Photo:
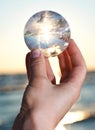
<path fill-rule="evenodd" d="M 25 74 L 0 75 L 0 130 L 11 130 L 26 85 Z M 95 130 L 95 72 L 87 73 L 80 98 L 60 125 L 62 130 Z"/>

